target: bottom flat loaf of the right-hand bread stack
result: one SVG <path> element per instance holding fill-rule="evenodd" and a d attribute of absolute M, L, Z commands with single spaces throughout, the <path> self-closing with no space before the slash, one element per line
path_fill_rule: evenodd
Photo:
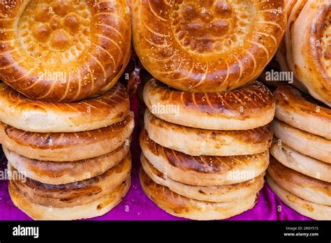
<path fill-rule="evenodd" d="M 293 193 L 290 193 L 289 191 L 286 191 L 286 189 L 277 185 L 270 175 L 267 175 L 266 181 L 272 191 L 274 191 L 274 193 L 276 193 L 286 205 L 293 208 L 299 214 L 316 220 L 331 219 L 330 206 L 319 205 L 293 195 Z"/>

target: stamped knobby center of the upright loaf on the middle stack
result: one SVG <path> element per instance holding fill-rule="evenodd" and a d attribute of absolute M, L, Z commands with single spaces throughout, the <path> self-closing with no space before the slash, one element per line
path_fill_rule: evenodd
<path fill-rule="evenodd" d="M 251 8 L 239 0 L 175 0 L 172 31 L 190 52 L 223 52 L 243 43 L 249 32 Z"/>

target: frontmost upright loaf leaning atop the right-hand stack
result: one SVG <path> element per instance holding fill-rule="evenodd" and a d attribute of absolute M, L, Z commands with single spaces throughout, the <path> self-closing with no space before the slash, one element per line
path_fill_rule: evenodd
<path fill-rule="evenodd" d="M 311 96 L 331 106 L 330 13 L 328 0 L 297 1 L 288 22 L 286 47 L 290 70 Z"/>

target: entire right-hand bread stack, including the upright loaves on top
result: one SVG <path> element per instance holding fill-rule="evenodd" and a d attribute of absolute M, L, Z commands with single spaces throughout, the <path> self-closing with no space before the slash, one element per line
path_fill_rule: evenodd
<path fill-rule="evenodd" d="M 276 57 L 281 71 L 293 72 L 297 89 L 284 85 L 274 92 L 276 139 L 267 175 L 288 206 L 320 220 L 331 219 L 330 8 L 324 0 L 286 3 L 286 34 Z"/>

